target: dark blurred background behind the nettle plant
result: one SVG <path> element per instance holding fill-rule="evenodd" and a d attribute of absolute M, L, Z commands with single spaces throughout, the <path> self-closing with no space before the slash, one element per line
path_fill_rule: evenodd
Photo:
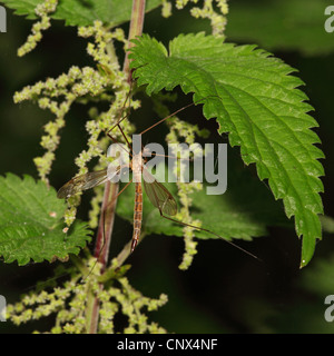
<path fill-rule="evenodd" d="M 183 32 L 207 30 L 209 33 L 207 21 L 196 21 L 187 11 L 174 12 L 174 18 L 164 20 L 159 10 L 153 11 L 146 17 L 144 31 L 165 43 L 177 36 L 180 28 Z M 31 23 L 8 11 L 8 31 L 0 33 L 0 174 L 10 171 L 38 178 L 32 158 L 42 154 L 39 146 L 42 126 L 52 117 L 31 102 L 14 105 L 12 96 L 23 86 L 47 77 L 57 77 L 72 65 L 91 65 L 91 61 L 86 53 L 86 40 L 77 37 L 76 29 L 63 27 L 61 21 L 53 21 L 52 28 L 45 33 L 35 51 L 18 58 L 17 49 L 24 42 Z M 127 28 L 128 23 L 124 24 L 126 31 Z M 332 36 L 334 41 L 334 33 Z M 234 41 L 233 31 L 228 40 Z M 238 38 L 238 42 L 257 41 L 243 41 Z M 265 43 L 261 44 L 266 49 Z M 298 76 L 306 83 L 303 90 L 315 108 L 312 115 L 320 123 L 320 128 L 315 130 L 326 155 L 323 160 L 326 172 L 326 177 L 323 177 L 325 212 L 334 216 L 334 188 L 331 185 L 334 175 L 334 55 L 328 51 L 326 55 L 305 56 L 301 50 L 291 48 L 271 51 L 297 68 Z M 174 106 L 179 108 L 189 100 L 189 97 L 180 95 Z M 196 109 L 190 109 L 188 115 L 196 117 L 199 113 Z M 144 105 L 140 118 L 139 126 L 151 125 L 149 122 L 154 117 L 148 103 Z M 77 171 L 73 158 L 85 148 L 86 119 L 86 109 L 80 105 L 75 105 L 67 116 L 67 127 L 50 176 L 51 185 L 56 188 Z M 214 121 L 206 122 L 203 119 L 200 126 L 209 128 L 214 139 L 227 141 L 226 137 L 215 136 Z M 239 149 L 228 148 L 228 157 L 240 160 Z M 80 218 L 87 219 L 86 214 L 84 200 Z M 118 219 L 112 236 L 111 256 L 117 254 L 128 236 L 131 236 L 131 225 L 125 225 L 124 220 Z M 332 333 L 332 324 L 324 319 L 324 299 L 326 295 L 334 294 L 334 278 L 331 278 L 331 270 L 334 270 L 334 244 L 331 235 L 324 234 L 313 260 L 302 270 L 298 268 L 301 241 L 293 230 L 269 228 L 268 236 L 240 245 L 263 259 L 263 263 L 227 244 L 207 240 L 199 241 L 198 254 L 191 267 L 187 271 L 180 271 L 177 267 L 184 253 L 183 240 L 150 236 L 129 258 L 132 268 L 128 276 L 131 285 L 145 296 L 158 297 L 160 293 L 168 295 L 168 304 L 149 315 L 171 333 Z M 24 267 L 18 267 L 14 263 L 0 263 L 0 294 L 7 297 L 8 303 L 14 303 L 21 294 L 33 288 L 38 280 L 51 276 L 52 268 L 48 263 Z M 1 323 L 0 333 L 47 330 L 50 325 L 52 318 L 19 328 L 10 323 Z"/>

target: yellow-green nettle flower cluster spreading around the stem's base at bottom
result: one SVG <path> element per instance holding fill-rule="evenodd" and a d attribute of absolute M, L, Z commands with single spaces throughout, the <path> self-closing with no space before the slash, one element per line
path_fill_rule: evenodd
<path fill-rule="evenodd" d="M 49 293 L 47 291 L 48 286 L 45 285 L 41 291 L 30 293 L 21 301 L 8 306 L 8 317 L 16 325 L 21 325 L 55 314 L 55 327 L 50 330 L 52 334 L 86 334 L 89 332 L 89 323 L 84 310 L 88 307 L 89 298 L 98 297 L 100 301 L 98 333 L 167 333 L 157 323 L 149 322 L 146 316 L 147 312 L 154 312 L 164 306 L 168 300 L 167 296 L 161 294 L 157 299 L 143 296 L 140 291 L 130 286 L 124 276 L 128 266 L 121 268 L 117 266 L 118 261 L 115 259 L 106 273 L 114 278 L 108 280 L 100 274 L 100 266 L 91 258 L 85 267 L 85 278 L 81 278 L 82 275 L 78 274 L 77 269 L 72 269 L 71 279 L 61 287 L 56 287 Z M 57 271 L 57 275 L 62 274 L 62 269 Z M 101 280 L 105 285 L 104 289 L 100 288 Z M 127 320 L 124 329 L 115 327 L 115 316 L 119 313 Z"/>

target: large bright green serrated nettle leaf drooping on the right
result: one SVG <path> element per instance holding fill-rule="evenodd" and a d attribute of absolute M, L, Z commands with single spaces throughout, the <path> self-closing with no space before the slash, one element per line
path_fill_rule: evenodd
<path fill-rule="evenodd" d="M 313 256 L 321 238 L 318 214 L 323 205 L 320 176 L 324 170 L 317 122 L 306 112 L 306 95 L 296 87 L 302 80 L 289 76 L 293 68 L 255 46 L 223 43 L 204 33 L 181 34 L 169 43 L 169 52 L 157 40 L 143 36 L 134 41 L 131 68 L 148 95 L 180 86 L 204 102 L 204 116 L 216 118 L 218 132 L 229 134 L 229 144 L 240 146 L 246 165 L 256 164 L 261 180 L 285 214 L 295 216 L 297 236 L 303 236 L 302 263 Z"/>

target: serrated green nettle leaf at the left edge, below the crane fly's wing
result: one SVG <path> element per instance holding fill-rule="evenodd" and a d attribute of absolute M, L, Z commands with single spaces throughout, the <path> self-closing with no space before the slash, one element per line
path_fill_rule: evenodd
<path fill-rule="evenodd" d="M 66 204 L 57 199 L 56 190 L 30 176 L 20 179 L 8 174 L 0 177 L 0 256 L 6 263 L 20 266 L 66 259 L 79 254 L 90 240 L 86 222 L 76 221 L 67 234 L 62 231 Z"/>

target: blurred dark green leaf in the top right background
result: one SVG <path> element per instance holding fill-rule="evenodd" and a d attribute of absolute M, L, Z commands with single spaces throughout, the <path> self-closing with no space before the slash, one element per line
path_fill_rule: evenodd
<path fill-rule="evenodd" d="M 334 50 L 324 23 L 327 0 L 230 1 L 229 41 L 256 42 L 268 50 L 298 50 L 314 56 Z M 261 20 L 261 26 L 254 26 Z"/>

